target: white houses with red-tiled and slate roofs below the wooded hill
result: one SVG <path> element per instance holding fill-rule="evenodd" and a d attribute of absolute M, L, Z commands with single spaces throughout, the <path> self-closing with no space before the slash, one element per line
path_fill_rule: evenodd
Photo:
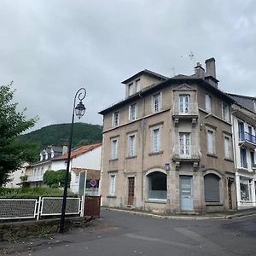
<path fill-rule="evenodd" d="M 55 150 L 53 147 L 44 149 L 44 152 L 40 153 L 40 160 L 26 167 L 27 182 L 30 183 L 31 187 L 44 186 L 44 172 L 48 170 L 58 171 L 67 169 L 67 147 L 55 147 Z M 49 154 L 46 156 L 46 152 L 48 151 Z M 79 146 L 72 149 L 70 161 L 71 191 L 74 193 L 79 192 L 79 174 L 81 170 L 97 172 L 98 175 L 96 177 L 100 176 L 101 155 L 102 143 Z M 92 177 L 94 176 L 92 175 Z"/>

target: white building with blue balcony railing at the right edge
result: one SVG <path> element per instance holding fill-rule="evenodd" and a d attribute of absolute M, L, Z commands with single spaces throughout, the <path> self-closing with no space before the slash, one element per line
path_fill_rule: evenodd
<path fill-rule="evenodd" d="M 232 125 L 237 207 L 256 207 L 256 98 L 230 96 L 236 100 Z"/>

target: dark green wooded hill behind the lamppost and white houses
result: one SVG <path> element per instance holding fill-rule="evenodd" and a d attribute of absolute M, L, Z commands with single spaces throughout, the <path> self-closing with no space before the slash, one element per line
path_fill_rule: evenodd
<path fill-rule="evenodd" d="M 38 150 L 49 145 L 63 146 L 68 144 L 71 124 L 58 124 L 45 126 L 36 131 L 20 136 L 20 140 L 26 143 L 36 143 Z M 102 142 L 102 125 L 90 125 L 85 123 L 73 124 L 73 147 Z"/>

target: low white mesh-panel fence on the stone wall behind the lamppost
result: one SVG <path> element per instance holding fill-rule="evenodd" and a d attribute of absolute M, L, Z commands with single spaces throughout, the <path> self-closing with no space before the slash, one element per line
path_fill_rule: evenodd
<path fill-rule="evenodd" d="M 61 215 L 62 197 L 0 199 L 0 219 L 36 218 Z M 66 215 L 84 215 L 84 196 L 67 197 Z"/>

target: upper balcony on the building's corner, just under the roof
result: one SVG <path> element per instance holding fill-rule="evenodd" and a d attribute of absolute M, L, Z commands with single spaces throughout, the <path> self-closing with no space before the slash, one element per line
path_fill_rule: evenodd
<path fill-rule="evenodd" d="M 179 119 L 191 119 L 192 123 L 196 123 L 198 119 L 198 105 L 197 102 L 183 104 L 181 102 L 174 102 L 172 108 L 172 119 L 175 123 Z"/>

